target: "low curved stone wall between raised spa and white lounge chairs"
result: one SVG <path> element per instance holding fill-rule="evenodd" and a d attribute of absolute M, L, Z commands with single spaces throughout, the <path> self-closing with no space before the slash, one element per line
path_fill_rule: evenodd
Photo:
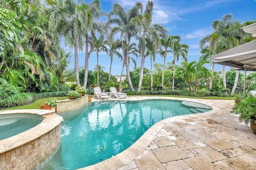
<path fill-rule="evenodd" d="M 70 111 L 79 109 L 84 106 L 85 103 L 89 102 L 89 95 L 82 96 L 74 100 L 59 100 L 57 101 L 57 112 Z"/>

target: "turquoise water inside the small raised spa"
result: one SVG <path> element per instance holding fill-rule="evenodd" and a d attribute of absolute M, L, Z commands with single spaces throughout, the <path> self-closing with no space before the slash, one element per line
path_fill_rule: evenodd
<path fill-rule="evenodd" d="M 0 115 L 0 140 L 27 131 L 42 120 L 41 116 L 31 114 Z"/>

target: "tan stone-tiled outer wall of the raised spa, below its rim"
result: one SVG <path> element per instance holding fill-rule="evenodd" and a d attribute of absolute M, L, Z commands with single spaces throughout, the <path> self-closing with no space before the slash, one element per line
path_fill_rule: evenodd
<path fill-rule="evenodd" d="M 51 155 L 60 141 L 61 124 L 31 142 L 0 154 L 0 169 L 33 169 Z"/>

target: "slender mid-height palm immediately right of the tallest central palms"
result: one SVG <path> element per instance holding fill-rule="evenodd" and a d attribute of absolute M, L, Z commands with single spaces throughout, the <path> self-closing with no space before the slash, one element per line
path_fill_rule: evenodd
<path fill-rule="evenodd" d="M 151 81 L 150 89 L 153 90 L 153 62 L 155 61 L 156 54 L 160 50 L 160 37 L 156 31 L 151 31 L 151 34 L 146 38 L 146 56 L 150 55 L 150 70 Z"/>

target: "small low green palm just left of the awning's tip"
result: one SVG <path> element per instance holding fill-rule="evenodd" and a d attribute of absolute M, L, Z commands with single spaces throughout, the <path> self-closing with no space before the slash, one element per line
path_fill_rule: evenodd
<path fill-rule="evenodd" d="M 195 74 L 194 74 L 194 80 L 195 80 L 195 88 L 194 93 L 197 91 L 197 84 L 199 82 L 200 78 L 206 77 L 209 74 L 209 70 L 204 67 L 204 64 L 210 63 L 210 61 L 207 60 L 199 60 L 198 62 L 195 62 Z"/>

